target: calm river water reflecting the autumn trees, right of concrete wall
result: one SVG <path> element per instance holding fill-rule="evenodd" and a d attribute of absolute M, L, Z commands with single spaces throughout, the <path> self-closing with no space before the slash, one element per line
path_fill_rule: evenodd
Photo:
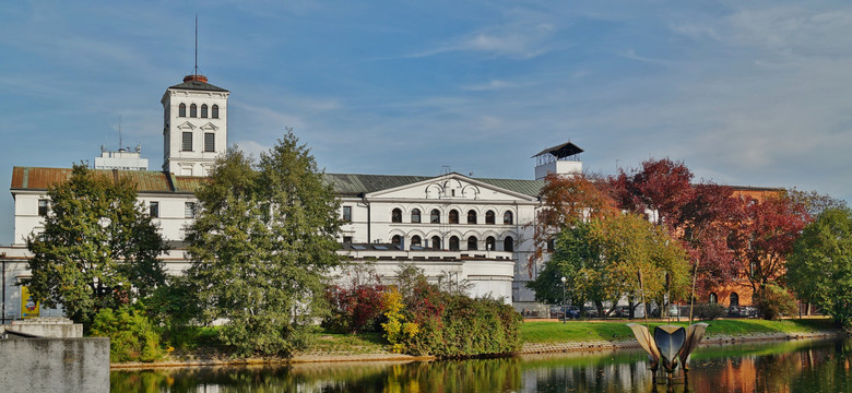
<path fill-rule="evenodd" d="M 431 362 L 114 371 L 114 392 L 849 392 L 852 342 L 700 347 L 686 383 L 654 384 L 643 352 Z"/>

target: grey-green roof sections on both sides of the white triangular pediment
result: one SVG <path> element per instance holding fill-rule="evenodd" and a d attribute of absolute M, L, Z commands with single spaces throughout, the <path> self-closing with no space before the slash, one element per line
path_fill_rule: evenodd
<path fill-rule="evenodd" d="M 436 178 L 435 176 L 356 174 L 326 174 L 324 176 L 327 181 L 334 188 L 334 191 L 342 195 L 370 193 Z M 539 196 L 539 192 L 544 186 L 544 180 L 481 178 L 475 178 L 475 180 L 533 198 Z"/>

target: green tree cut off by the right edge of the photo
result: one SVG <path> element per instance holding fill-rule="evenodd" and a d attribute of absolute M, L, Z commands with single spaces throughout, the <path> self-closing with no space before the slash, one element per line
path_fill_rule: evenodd
<path fill-rule="evenodd" d="M 802 299 L 852 329 L 852 210 L 827 209 L 805 227 L 786 262 L 785 281 Z"/>

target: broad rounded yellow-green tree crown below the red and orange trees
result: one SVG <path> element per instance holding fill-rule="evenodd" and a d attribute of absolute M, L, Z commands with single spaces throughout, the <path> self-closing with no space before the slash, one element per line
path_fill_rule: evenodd
<path fill-rule="evenodd" d="M 604 301 L 641 297 L 639 272 L 648 299 L 662 300 L 666 290 L 673 299 L 688 295 L 686 253 L 665 228 L 634 214 L 603 216 L 564 229 L 551 260 L 528 286 L 537 301 L 556 303 L 561 301 L 561 277 L 566 277 L 571 302 L 582 310 L 592 301 L 601 312 Z"/>

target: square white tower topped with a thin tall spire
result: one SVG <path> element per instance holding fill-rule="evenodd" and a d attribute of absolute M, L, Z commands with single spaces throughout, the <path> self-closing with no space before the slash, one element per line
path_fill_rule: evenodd
<path fill-rule="evenodd" d="M 230 92 L 212 85 L 196 68 L 184 82 L 163 94 L 163 170 L 180 176 L 208 176 L 216 157 L 227 148 Z"/>

